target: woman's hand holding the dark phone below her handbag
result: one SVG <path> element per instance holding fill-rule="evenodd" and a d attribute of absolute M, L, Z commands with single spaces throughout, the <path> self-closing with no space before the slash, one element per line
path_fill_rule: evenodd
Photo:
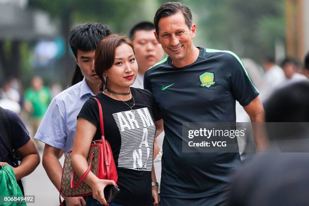
<path fill-rule="evenodd" d="M 108 204 L 104 197 L 104 188 L 107 185 L 115 185 L 114 180 L 101 180 L 98 179 L 93 185 L 91 185 L 92 189 L 92 197 L 98 200 L 101 204 Z"/>

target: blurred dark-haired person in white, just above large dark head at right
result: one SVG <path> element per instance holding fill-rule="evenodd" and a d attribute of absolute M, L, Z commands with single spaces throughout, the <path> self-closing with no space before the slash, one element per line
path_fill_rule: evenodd
<path fill-rule="evenodd" d="M 307 80 L 303 74 L 297 73 L 297 63 L 292 58 L 286 58 L 281 63 L 281 68 L 285 74 L 285 83 L 292 83 Z"/>

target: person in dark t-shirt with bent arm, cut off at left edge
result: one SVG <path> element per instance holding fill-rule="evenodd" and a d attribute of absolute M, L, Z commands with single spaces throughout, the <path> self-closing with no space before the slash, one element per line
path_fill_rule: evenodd
<path fill-rule="evenodd" d="M 39 163 L 39 153 L 22 119 L 15 112 L 0 107 L 0 169 L 12 167 L 24 194 L 21 179 L 32 173 Z M 4 177 L 0 178 L 0 182 L 2 178 Z M 5 191 L 0 191 L 0 194 L 3 192 Z"/>

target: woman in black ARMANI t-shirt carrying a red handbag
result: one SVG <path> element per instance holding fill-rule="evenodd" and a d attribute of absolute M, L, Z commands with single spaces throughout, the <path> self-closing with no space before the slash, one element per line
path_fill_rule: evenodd
<path fill-rule="evenodd" d="M 161 115 L 148 90 L 130 87 L 137 75 L 132 43 L 124 36 L 110 35 L 97 45 L 94 68 L 101 80 L 96 98 L 104 114 L 105 139 L 109 141 L 118 173 L 117 205 L 158 205 L 158 184 L 153 169 L 153 140 L 163 130 Z M 76 126 L 72 165 L 78 176 L 88 168 L 92 140 L 101 139 L 98 105 L 89 99 Z M 87 205 L 106 204 L 104 188 L 116 184 L 89 172 L 84 180 L 92 189 Z M 151 186 L 152 183 L 155 183 Z M 154 201 L 153 201 L 153 200 Z M 113 205 L 110 204 L 110 205 Z"/>

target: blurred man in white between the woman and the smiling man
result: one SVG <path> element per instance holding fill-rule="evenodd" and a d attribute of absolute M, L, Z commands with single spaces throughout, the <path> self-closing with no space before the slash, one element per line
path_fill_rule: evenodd
<path fill-rule="evenodd" d="M 144 88 L 145 72 L 161 61 L 164 56 L 164 50 L 153 32 L 155 32 L 155 25 L 151 22 L 140 22 L 133 26 L 130 31 L 130 39 L 133 42 L 135 58 L 138 64 L 137 77 L 132 85 L 135 88 Z M 153 160 L 156 161 L 155 169 L 159 183 L 161 179 L 161 156 L 158 156 L 158 153 L 162 152 L 163 138 L 164 132 L 155 138 L 155 148 L 153 149 Z"/>

